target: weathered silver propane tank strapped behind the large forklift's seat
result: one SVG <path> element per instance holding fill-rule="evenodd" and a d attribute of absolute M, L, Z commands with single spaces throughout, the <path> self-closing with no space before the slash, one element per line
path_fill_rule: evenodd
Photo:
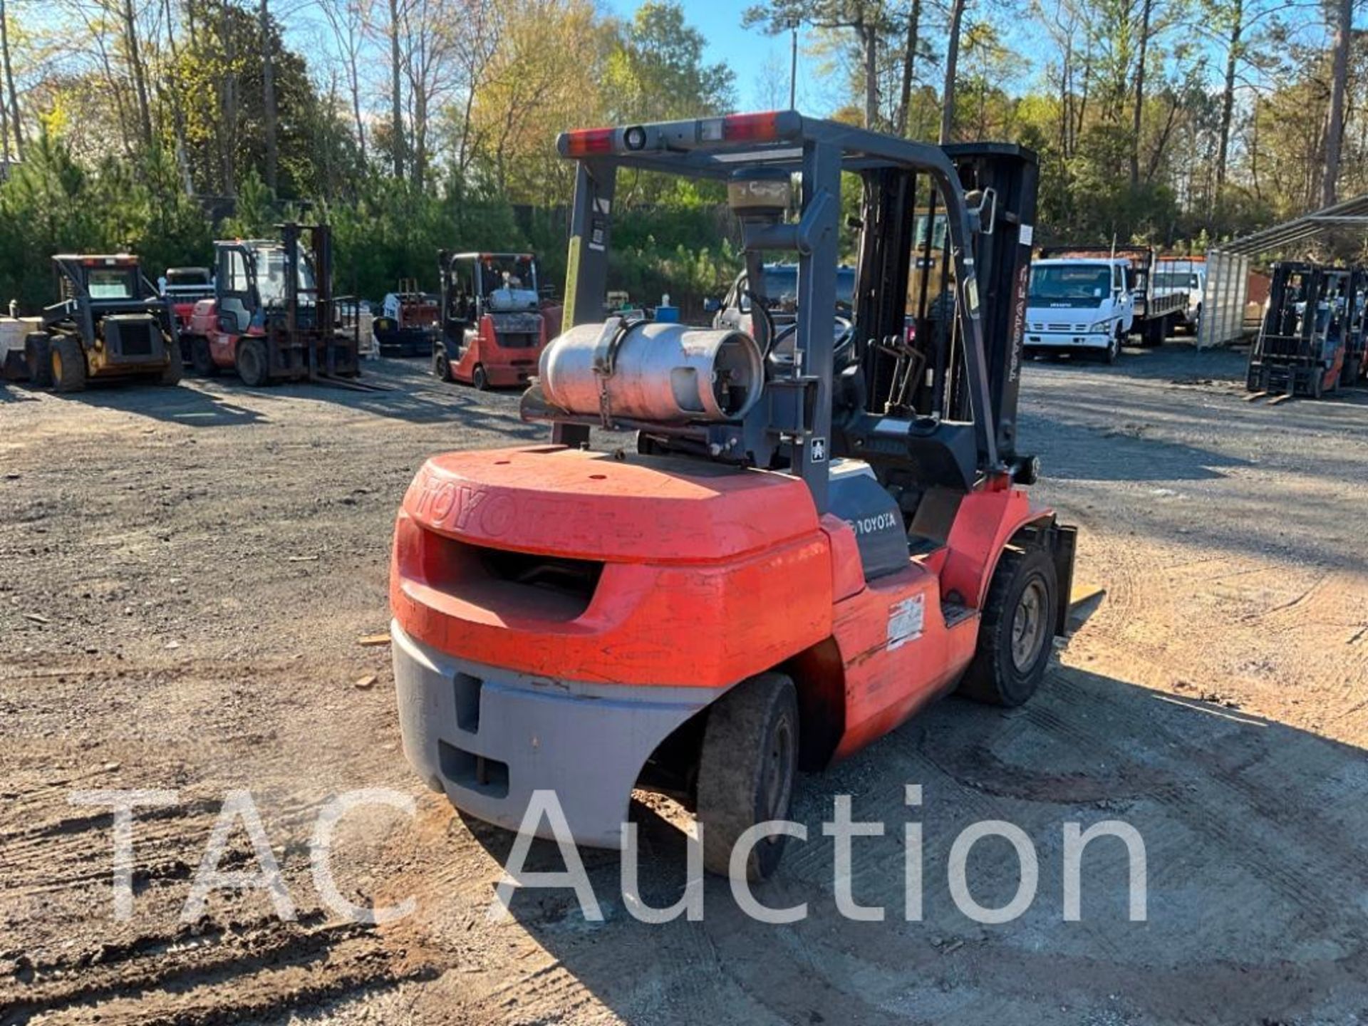
<path fill-rule="evenodd" d="M 765 384 L 750 335 L 659 321 L 573 327 L 542 350 L 538 373 L 568 413 L 654 423 L 736 420 Z"/>

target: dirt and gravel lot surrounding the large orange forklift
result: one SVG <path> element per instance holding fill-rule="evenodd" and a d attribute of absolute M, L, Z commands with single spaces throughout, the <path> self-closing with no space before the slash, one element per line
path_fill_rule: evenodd
<path fill-rule="evenodd" d="M 1182 345 L 1029 365 L 1037 494 L 1079 525 L 1079 580 L 1108 590 L 1042 694 L 1005 714 L 945 700 L 803 777 L 810 840 L 759 891 L 807 902 L 802 922 L 755 923 L 710 880 L 702 922 L 639 923 L 620 858 L 588 851 L 605 922 L 531 891 L 491 925 L 510 839 L 409 773 L 389 651 L 358 639 L 386 629 L 391 517 L 423 458 L 543 430 L 514 395 L 369 371 L 397 390 L 0 387 L 0 1023 L 1368 1022 L 1368 393 L 1249 404 L 1239 354 Z M 378 929 L 339 922 L 309 876 L 319 808 L 364 787 L 419 804 L 334 839 L 345 896 L 417 902 Z M 101 788 L 176 792 L 137 817 L 122 923 L 111 815 L 70 803 Z M 220 892 L 181 926 L 239 788 L 297 918 Z M 839 793 L 889 824 L 856 840 L 851 881 L 885 922 L 836 912 L 821 822 Z M 658 803 L 635 814 L 643 896 L 668 904 L 681 836 Z M 1124 850 L 1099 841 L 1066 922 L 1063 825 L 1111 818 L 1144 837 L 1148 918 L 1127 921 Z M 1000 926 L 947 885 L 978 819 L 1038 852 L 1034 903 Z M 904 822 L 925 830 L 921 922 Z M 254 866 L 241 824 L 223 866 Z M 978 902 L 1016 880 L 1004 841 L 974 850 Z"/>

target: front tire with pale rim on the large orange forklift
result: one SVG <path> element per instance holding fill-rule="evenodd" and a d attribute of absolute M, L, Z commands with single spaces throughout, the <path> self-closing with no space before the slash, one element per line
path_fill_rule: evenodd
<path fill-rule="evenodd" d="M 959 684 L 962 695 L 1019 706 L 1036 694 L 1053 651 L 1057 595 L 1055 561 L 1047 550 L 1003 550 L 984 602 L 978 647 Z"/>

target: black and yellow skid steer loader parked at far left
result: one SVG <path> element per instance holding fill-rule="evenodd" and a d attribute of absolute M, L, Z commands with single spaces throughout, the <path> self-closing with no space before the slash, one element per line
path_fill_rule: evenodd
<path fill-rule="evenodd" d="M 25 339 L 29 380 L 81 391 L 90 380 L 181 380 L 181 346 L 167 300 L 138 259 L 116 254 L 52 257 L 57 302 Z"/>

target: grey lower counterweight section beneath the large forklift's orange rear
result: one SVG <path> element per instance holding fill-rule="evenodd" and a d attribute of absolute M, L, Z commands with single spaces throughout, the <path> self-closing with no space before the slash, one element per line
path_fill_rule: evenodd
<path fill-rule="evenodd" d="M 599 848 L 621 847 L 647 757 L 725 691 L 532 677 L 439 653 L 397 622 L 390 633 L 404 754 L 428 787 L 510 830 L 534 791 L 553 789 L 576 843 Z M 544 817 L 536 832 L 551 837 Z"/>

